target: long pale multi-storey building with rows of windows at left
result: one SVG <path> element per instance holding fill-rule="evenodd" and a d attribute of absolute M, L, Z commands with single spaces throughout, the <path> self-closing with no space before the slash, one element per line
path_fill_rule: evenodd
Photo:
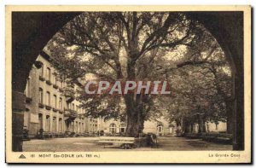
<path fill-rule="evenodd" d="M 56 71 L 49 63 L 49 55 L 42 52 L 37 61 L 41 62 L 41 67 L 32 67 L 25 90 L 24 129 L 28 130 L 29 136 L 37 136 L 40 130 L 54 134 L 101 130 L 100 119 L 86 118 L 75 96 L 63 93 L 67 84 L 55 77 Z M 75 93 L 79 87 L 79 84 L 73 84 L 68 90 Z"/>

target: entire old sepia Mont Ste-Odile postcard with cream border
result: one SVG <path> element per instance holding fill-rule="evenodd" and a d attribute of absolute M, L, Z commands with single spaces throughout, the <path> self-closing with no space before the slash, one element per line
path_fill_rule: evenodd
<path fill-rule="evenodd" d="M 6 6 L 7 163 L 251 163 L 250 6 Z"/>

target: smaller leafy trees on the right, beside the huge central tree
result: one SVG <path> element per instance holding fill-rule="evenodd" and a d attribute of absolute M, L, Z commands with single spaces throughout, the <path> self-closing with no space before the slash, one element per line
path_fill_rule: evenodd
<path fill-rule="evenodd" d="M 169 103 L 171 120 L 183 120 L 183 130 L 199 124 L 199 132 L 206 131 L 205 123 L 227 121 L 232 130 L 232 80 L 228 61 L 209 32 L 201 32 L 196 44 L 183 54 L 183 62 L 176 67 L 163 67 L 172 84 L 175 96 Z M 164 64 L 163 64 L 164 65 Z"/>

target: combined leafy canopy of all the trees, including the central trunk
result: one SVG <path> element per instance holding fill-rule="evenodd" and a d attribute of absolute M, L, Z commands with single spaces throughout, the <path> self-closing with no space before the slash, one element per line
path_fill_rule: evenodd
<path fill-rule="evenodd" d="M 47 47 L 60 78 L 167 80 L 171 96 L 85 95 L 87 115 L 126 119 L 136 136 L 146 119 L 225 119 L 230 68 L 217 41 L 178 12 L 84 12 L 57 32 Z"/>

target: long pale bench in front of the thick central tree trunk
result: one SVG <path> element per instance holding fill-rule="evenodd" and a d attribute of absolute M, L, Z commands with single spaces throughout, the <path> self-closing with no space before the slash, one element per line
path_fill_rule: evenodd
<path fill-rule="evenodd" d="M 100 143 L 120 143 L 121 148 L 131 148 L 135 143 L 134 137 L 121 137 L 121 136 L 100 136 Z"/>

